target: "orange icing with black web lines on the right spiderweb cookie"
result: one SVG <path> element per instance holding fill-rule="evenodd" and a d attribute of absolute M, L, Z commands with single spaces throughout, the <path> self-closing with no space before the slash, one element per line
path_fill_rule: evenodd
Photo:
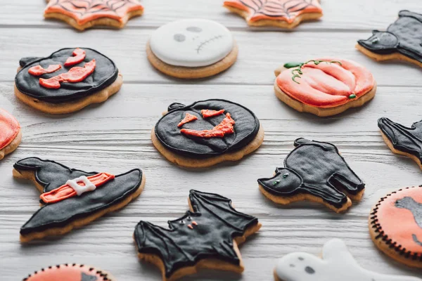
<path fill-rule="evenodd" d="M 319 0 L 229 0 L 224 6 L 249 13 L 248 21 L 283 20 L 292 23 L 303 13 L 322 13 Z"/>

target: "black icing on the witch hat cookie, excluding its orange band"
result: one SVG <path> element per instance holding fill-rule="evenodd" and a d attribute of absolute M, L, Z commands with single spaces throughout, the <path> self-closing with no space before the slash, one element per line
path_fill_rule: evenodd
<path fill-rule="evenodd" d="M 37 157 L 22 159 L 13 167 L 18 171 L 34 171 L 37 183 L 44 187 L 44 192 L 54 190 L 65 184 L 66 181 L 79 178 L 79 176 L 98 174 L 97 172 L 70 169 L 57 162 Z M 115 176 L 115 179 L 92 192 L 86 192 L 53 204 L 46 204 L 20 228 L 20 234 L 29 235 L 48 228 L 63 227 L 77 218 L 84 218 L 96 211 L 107 209 L 134 193 L 141 181 L 142 171 L 133 169 Z"/>

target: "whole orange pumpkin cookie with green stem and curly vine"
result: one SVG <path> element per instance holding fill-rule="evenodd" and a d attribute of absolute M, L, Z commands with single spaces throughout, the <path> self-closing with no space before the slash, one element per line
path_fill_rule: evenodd
<path fill-rule="evenodd" d="M 376 93 L 371 72 L 352 60 L 322 58 L 286 63 L 275 74 L 277 98 L 295 110 L 320 117 L 362 106 Z"/>

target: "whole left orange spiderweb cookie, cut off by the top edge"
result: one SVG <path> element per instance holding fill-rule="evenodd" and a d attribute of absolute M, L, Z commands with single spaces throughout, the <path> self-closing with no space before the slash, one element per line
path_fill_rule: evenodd
<path fill-rule="evenodd" d="M 138 0 L 47 0 L 44 18 L 68 22 L 77 30 L 95 25 L 122 28 L 126 22 L 142 15 Z"/>

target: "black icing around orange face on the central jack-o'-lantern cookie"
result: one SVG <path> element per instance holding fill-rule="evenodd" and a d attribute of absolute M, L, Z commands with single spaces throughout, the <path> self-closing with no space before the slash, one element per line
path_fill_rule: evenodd
<path fill-rule="evenodd" d="M 204 119 L 200 110 L 222 110 L 224 115 Z M 211 157 L 222 155 L 226 152 L 239 150 L 255 138 L 260 130 L 260 121 L 248 110 L 248 108 L 232 103 L 228 100 L 202 100 L 191 105 L 172 103 L 168 108 L 169 112 L 163 116 L 155 125 L 155 136 L 165 148 L 180 155 L 194 157 Z M 186 112 L 196 115 L 198 120 L 177 127 L 177 124 L 184 119 Z M 234 119 L 233 134 L 227 134 L 224 138 L 198 138 L 185 136 L 181 129 L 206 130 L 218 125 L 230 113 Z"/>

